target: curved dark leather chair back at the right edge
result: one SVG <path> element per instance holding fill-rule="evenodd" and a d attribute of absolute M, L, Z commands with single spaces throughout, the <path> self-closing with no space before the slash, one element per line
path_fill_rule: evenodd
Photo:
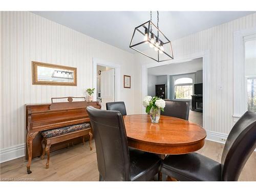
<path fill-rule="evenodd" d="M 227 137 L 221 158 L 223 181 L 237 181 L 256 147 L 256 113 L 246 112 Z"/>

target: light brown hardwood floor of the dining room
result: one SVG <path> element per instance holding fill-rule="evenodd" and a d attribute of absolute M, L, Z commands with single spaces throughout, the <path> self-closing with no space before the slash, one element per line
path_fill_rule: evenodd
<path fill-rule="evenodd" d="M 204 147 L 198 153 L 218 162 L 221 160 L 223 144 L 206 140 Z M 46 159 L 32 160 L 32 174 L 26 172 L 27 162 L 18 158 L 0 164 L 1 180 L 30 180 L 30 181 L 98 181 L 96 150 L 90 151 L 89 143 L 77 144 L 73 147 L 50 154 L 49 168 L 45 168 Z M 239 181 L 256 181 L 256 152 L 253 152 L 244 166 Z"/>

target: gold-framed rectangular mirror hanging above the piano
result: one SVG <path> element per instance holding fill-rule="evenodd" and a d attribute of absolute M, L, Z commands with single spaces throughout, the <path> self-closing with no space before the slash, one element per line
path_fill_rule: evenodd
<path fill-rule="evenodd" d="M 76 68 L 32 61 L 32 84 L 77 86 Z"/>

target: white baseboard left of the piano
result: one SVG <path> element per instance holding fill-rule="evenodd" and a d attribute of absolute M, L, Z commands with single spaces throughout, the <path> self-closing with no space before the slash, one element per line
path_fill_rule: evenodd
<path fill-rule="evenodd" d="M 25 143 L 0 150 L 0 163 L 25 156 Z"/>

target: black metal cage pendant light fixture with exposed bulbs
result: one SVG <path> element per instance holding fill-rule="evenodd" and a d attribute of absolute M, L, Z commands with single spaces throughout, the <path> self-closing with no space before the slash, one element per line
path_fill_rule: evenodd
<path fill-rule="evenodd" d="M 158 11 L 157 26 L 152 22 L 151 11 L 150 20 L 134 29 L 130 48 L 157 62 L 174 59 L 170 40 L 159 30 Z"/>

